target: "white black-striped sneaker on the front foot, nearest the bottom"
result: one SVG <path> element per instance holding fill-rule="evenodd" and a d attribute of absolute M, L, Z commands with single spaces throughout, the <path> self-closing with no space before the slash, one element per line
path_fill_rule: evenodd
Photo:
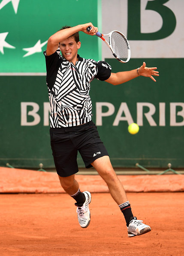
<path fill-rule="evenodd" d="M 145 225 L 144 223 L 142 223 L 141 220 L 138 220 L 136 217 L 130 218 L 130 224 L 127 228 L 128 237 L 140 236 L 151 231 L 150 226 Z"/>

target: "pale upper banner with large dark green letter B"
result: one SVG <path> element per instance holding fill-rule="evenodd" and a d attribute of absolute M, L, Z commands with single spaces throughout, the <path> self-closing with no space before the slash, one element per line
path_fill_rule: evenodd
<path fill-rule="evenodd" d="M 102 33 L 121 31 L 131 58 L 184 58 L 183 0 L 102 0 Z M 102 57 L 112 53 L 102 45 Z"/>

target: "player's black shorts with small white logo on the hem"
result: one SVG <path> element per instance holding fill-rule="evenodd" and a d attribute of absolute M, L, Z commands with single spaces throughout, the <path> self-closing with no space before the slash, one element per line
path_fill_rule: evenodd
<path fill-rule="evenodd" d="M 92 167 L 94 160 L 109 156 L 100 140 L 97 126 L 90 121 L 84 125 L 50 128 L 51 149 L 57 174 L 68 177 L 78 172 L 77 153 L 85 167 Z"/>

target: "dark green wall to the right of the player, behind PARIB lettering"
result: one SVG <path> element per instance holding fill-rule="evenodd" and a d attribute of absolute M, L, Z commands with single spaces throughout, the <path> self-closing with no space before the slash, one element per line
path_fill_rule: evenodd
<path fill-rule="evenodd" d="M 94 106 L 97 102 L 104 103 L 103 113 L 109 111 L 106 103 L 115 106 L 114 113 L 110 116 L 103 116 L 103 125 L 98 126 L 101 139 L 110 153 L 114 166 L 135 167 L 135 164 L 139 162 L 139 164 L 147 167 L 164 168 L 169 162 L 172 162 L 175 167 L 183 167 L 184 74 L 181 74 L 177 66 L 173 66 L 173 62 L 182 66 L 184 60 L 144 60 L 147 66 L 157 66 L 160 72 L 160 76 L 156 78 L 157 82 L 150 78 L 138 77 L 126 84 L 116 86 L 100 81 L 96 81 L 92 86 L 91 95 Z M 142 61 L 142 59 L 131 59 L 128 64 L 123 65 L 123 70 L 134 69 L 140 66 Z M 115 59 L 107 59 L 107 62 L 112 65 L 113 72 L 122 70 L 121 63 Z M 171 66 L 172 72 L 167 75 Z M 99 87 L 100 94 L 97 93 Z M 122 103 L 127 104 L 133 122 L 139 124 L 138 134 L 132 135 L 127 131 L 129 112 L 125 108 L 120 109 Z M 143 111 L 138 109 L 137 106 L 140 106 L 141 103 L 151 103 L 151 106 L 155 108 L 155 113 L 151 116 L 153 120 L 147 119 L 145 116 L 145 113 L 150 111 L 149 105 L 144 106 Z M 179 106 L 175 108 L 174 103 Z M 120 116 L 124 117 L 125 120 L 115 124 L 119 110 Z M 96 113 L 95 109 L 94 113 Z M 97 116 L 102 116 L 101 112 L 97 113 L 96 118 Z M 137 119 L 138 116 L 139 120 Z M 94 120 L 98 124 L 101 119 L 94 118 Z"/>

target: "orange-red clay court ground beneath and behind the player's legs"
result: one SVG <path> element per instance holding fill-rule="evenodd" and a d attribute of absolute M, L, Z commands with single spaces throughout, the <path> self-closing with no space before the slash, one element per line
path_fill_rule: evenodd
<path fill-rule="evenodd" d="M 129 238 L 123 214 L 98 175 L 76 177 L 82 191 L 92 192 L 91 222 L 83 229 L 55 173 L 0 173 L 1 256 L 184 255 L 184 175 L 118 176 L 133 214 L 152 228 Z"/>

